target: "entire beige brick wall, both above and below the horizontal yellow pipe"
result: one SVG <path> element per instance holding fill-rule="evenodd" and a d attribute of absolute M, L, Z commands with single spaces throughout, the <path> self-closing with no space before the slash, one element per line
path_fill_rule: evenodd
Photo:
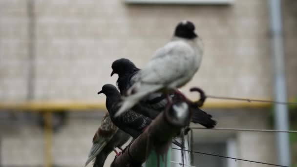
<path fill-rule="evenodd" d="M 0 0 L 1 102 L 24 101 L 27 95 L 29 56 L 26 2 Z M 109 77 L 111 63 L 126 57 L 139 67 L 144 66 L 152 53 L 170 40 L 176 23 L 184 19 L 196 24 L 197 32 L 205 43 L 202 66 L 184 90 L 198 85 L 214 95 L 254 98 L 273 95 L 266 0 L 235 0 L 231 6 L 127 5 L 122 0 L 35 2 L 35 100 L 103 102 L 104 96 L 98 97 L 96 92 L 103 84 L 115 84 L 116 77 Z M 294 0 L 284 2 L 290 96 L 297 94 L 297 15 L 294 6 Z M 249 111 L 244 116 L 236 115 L 238 113 L 226 111 L 219 114 L 219 126 L 269 127 L 265 119 L 267 115 L 261 112 L 253 112 L 257 113 L 255 115 Z M 227 116 L 224 117 L 224 114 Z M 55 134 L 55 163 L 81 167 L 98 125 L 98 120 L 70 119 Z M 23 132 L 22 128 L 27 132 Z M 1 163 L 42 165 L 42 132 L 32 126 L 22 128 L 2 128 L 1 132 L 5 130 L 5 135 L 1 138 Z M 204 133 L 197 134 L 205 136 Z M 216 134 L 222 137 L 235 135 L 240 149 L 238 156 L 241 158 L 274 162 L 274 155 L 268 156 L 274 152 L 272 134 Z M 29 137 L 31 135 L 35 137 L 34 140 Z M 32 150 L 31 146 L 38 147 L 32 154 L 34 158 L 26 154 Z M 22 151 L 16 150 L 18 148 Z M 69 152 L 71 159 L 67 154 Z M 12 155 L 21 158 L 16 160 Z M 257 167 L 255 164 L 238 164 L 240 167 Z"/>

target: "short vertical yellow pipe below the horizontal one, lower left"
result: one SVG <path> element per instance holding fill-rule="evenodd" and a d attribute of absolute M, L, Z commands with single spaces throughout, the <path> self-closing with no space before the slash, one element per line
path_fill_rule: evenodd
<path fill-rule="evenodd" d="M 52 167 L 52 140 L 53 140 L 53 127 L 52 127 L 52 113 L 43 113 L 44 117 L 44 167 Z"/>

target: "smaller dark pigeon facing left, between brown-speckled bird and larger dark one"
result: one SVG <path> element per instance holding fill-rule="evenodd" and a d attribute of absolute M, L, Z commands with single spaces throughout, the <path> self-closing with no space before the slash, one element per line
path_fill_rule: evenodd
<path fill-rule="evenodd" d="M 106 95 L 106 108 L 110 114 L 111 121 L 134 139 L 151 123 L 152 120 L 150 118 L 138 114 L 133 110 L 129 110 L 118 117 L 114 117 L 114 114 L 118 111 L 119 107 L 121 107 L 119 104 L 122 100 L 120 92 L 114 85 L 103 85 L 102 90 L 98 92 L 98 94 L 100 93 Z M 175 140 L 172 143 L 181 146 L 181 144 Z"/>

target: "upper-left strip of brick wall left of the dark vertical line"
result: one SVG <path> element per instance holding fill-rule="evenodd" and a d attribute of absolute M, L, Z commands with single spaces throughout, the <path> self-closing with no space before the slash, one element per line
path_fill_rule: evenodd
<path fill-rule="evenodd" d="M 25 0 L 0 0 L 0 100 L 27 94 L 27 8 Z"/>

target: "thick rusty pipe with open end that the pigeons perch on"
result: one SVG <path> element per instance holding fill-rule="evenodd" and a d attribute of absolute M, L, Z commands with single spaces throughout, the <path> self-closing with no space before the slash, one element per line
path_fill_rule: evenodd
<path fill-rule="evenodd" d="M 165 167 L 170 163 L 167 153 L 172 137 L 190 124 L 191 113 L 188 104 L 179 102 L 170 106 L 146 128 L 119 156 L 111 167 L 141 167 L 148 160 L 147 167 Z"/>

